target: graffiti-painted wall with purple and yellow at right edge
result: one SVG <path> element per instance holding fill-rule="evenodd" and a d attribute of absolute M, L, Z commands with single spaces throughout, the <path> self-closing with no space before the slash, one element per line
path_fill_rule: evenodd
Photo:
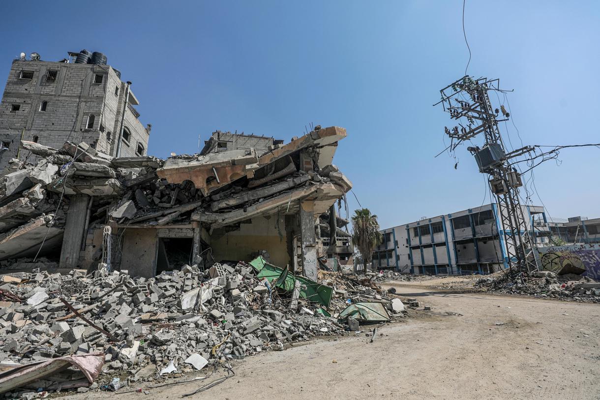
<path fill-rule="evenodd" d="M 600 279 L 600 244 L 538 247 L 537 250 L 544 270 Z"/>

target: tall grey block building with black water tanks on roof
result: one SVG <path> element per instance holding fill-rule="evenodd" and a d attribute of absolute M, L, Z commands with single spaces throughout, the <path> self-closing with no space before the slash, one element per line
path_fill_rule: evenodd
<path fill-rule="evenodd" d="M 122 82 L 104 56 L 88 64 L 89 52 L 69 54 L 60 62 L 13 61 L 0 104 L 0 169 L 29 156 L 20 150 L 21 140 L 55 148 L 83 141 L 115 156 L 122 131 L 121 157 L 146 155 L 150 126 L 138 119 L 130 82 Z"/>

